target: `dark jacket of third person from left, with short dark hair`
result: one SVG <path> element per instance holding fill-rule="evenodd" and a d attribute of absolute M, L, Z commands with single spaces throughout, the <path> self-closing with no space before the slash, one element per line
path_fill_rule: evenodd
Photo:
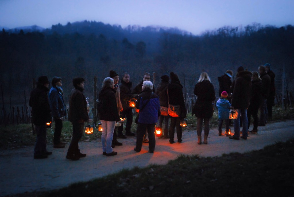
<path fill-rule="evenodd" d="M 69 96 L 69 121 L 73 123 L 84 123 L 89 119 L 87 102 L 83 89 L 76 87 L 71 90 Z"/>

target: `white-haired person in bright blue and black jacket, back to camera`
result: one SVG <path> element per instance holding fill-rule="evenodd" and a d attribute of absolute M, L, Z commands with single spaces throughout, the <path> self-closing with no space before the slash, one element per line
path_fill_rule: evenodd
<path fill-rule="evenodd" d="M 160 106 L 158 95 L 152 92 L 153 84 L 151 81 L 144 81 L 142 93 L 136 101 L 136 109 L 139 110 L 137 140 L 134 151 L 140 152 L 142 149 L 144 135 L 146 130 L 149 136 L 149 152 L 153 153 L 155 149 L 155 125 L 160 115 Z"/>

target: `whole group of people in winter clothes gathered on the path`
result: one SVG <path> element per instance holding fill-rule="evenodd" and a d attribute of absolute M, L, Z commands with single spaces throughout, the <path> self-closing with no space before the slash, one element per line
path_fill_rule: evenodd
<path fill-rule="evenodd" d="M 225 122 L 225 134 L 230 139 L 247 139 L 250 118 L 253 116 L 253 129 L 250 133 L 257 134 L 258 125 L 264 126 L 267 118 L 272 116 L 275 96 L 275 74 L 270 69 L 270 64 L 259 66 L 258 72 L 249 72 L 240 66 L 236 78 L 233 72 L 227 70 L 218 78 L 219 96 L 216 102 L 218 108 L 219 135 L 222 134 L 222 124 Z M 49 80 L 46 76 L 38 79 L 37 87 L 31 92 L 29 105 L 32 108 L 32 122 L 35 125 L 36 143 L 34 158 L 43 159 L 52 152 L 46 149 L 46 123 L 55 122 L 54 148 L 64 148 L 65 143 L 60 141 L 62 121 L 66 115 L 66 107 L 62 92 L 62 79 L 54 77 L 52 88 L 49 91 Z M 84 79 L 74 78 L 74 89 L 69 96 L 69 121 L 73 125 L 72 140 L 66 154 L 67 159 L 78 160 L 85 157 L 78 148 L 78 142 L 84 132 L 84 123 L 93 122 L 88 116 L 87 102 L 83 95 Z M 47 92 L 49 95 L 47 96 Z M 204 144 L 208 144 L 209 120 L 213 115 L 214 101 L 216 99 L 213 84 L 206 72 L 201 73 L 194 88 L 197 101 L 193 107 L 192 115 L 197 117 L 198 144 L 202 144 L 202 123 L 204 121 Z M 136 134 L 131 132 L 133 123 L 133 107 L 130 102 L 136 100 Z M 98 98 L 98 117 L 101 120 L 103 132 L 101 135 L 102 153 L 106 156 L 117 155 L 113 151 L 115 146 L 121 146 L 118 138 L 136 135 L 136 147 L 134 151 L 140 152 L 143 142 L 149 143 L 149 152 L 155 150 L 155 128 L 163 128 L 162 138 L 169 139 L 169 143 L 175 143 L 175 129 L 177 142 L 182 142 L 181 120 L 186 118 L 186 105 L 183 96 L 183 86 L 176 73 L 163 74 L 157 88 L 151 82 L 151 74 L 145 73 L 143 80 L 132 87 L 129 73 L 123 73 L 119 83 L 119 75 L 115 71 L 109 72 L 102 83 L 102 89 Z M 260 110 L 260 121 L 258 121 Z M 237 115 L 234 119 L 234 135 L 230 135 L 229 112 Z M 122 121 L 125 119 L 126 121 Z M 242 119 L 242 132 L 240 132 L 240 119 Z M 170 120 L 170 123 L 169 123 Z M 123 124 L 125 134 L 123 134 Z M 164 126 L 163 126 L 164 125 Z M 148 139 L 147 139 L 148 136 Z"/>

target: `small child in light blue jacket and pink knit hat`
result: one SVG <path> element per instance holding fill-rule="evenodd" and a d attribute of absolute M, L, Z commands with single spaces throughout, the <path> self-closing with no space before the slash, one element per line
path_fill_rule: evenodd
<path fill-rule="evenodd" d="M 223 121 L 225 120 L 225 134 L 226 136 L 230 136 L 229 134 L 229 112 L 231 104 L 226 99 L 228 97 L 228 93 L 226 91 L 223 91 L 220 95 L 220 98 L 216 102 L 216 107 L 218 108 L 218 135 L 222 136 L 222 126 Z"/>

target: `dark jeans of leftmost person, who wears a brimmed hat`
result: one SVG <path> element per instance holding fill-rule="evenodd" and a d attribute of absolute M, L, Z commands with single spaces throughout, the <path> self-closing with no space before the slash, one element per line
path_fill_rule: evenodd
<path fill-rule="evenodd" d="M 35 143 L 35 149 L 34 149 L 34 155 L 41 155 L 44 154 L 46 149 L 46 124 L 42 125 L 35 125 L 35 132 L 37 134 L 36 136 L 36 143 Z"/>

